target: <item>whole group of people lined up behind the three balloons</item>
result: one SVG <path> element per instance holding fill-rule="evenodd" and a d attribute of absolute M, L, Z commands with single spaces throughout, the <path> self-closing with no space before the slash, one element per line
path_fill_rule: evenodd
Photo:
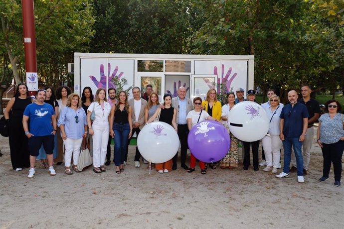
<path fill-rule="evenodd" d="M 54 160 L 56 165 L 60 165 L 64 156 L 65 173 L 70 175 L 73 171 L 79 172 L 77 163 L 80 148 L 82 142 L 86 141 L 93 156 L 93 171 L 102 173 L 106 171 L 106 166 L 111 164 L 110 143 L 114 139 L 113 162 L 116 173 L 120 174 L 124 171 L 128 159 L 128 143 L 133 134 L 136 133 L 138 136 L 145 124 L 159 120 L 172 125 L 177 132 L 180 140 L 180 166 L 191 173 L 195 170 L 196 158 L 191 152 L 188 167 L 186 154 L 187 135 L 192 126 L 205 119 L 213 119 L 222 122 L 230 133 L 228 116 L 235 104 L 243 101 L 256 103 L 256 92 L 249 90 L 245 99 L 245 90 L 242 88 L 236 89 L 236 94 L 229 92 L 227 103 L 223 106 L 217 100 L 215 89 L 208 90 L 204 101 L 200 97 L 191 101 L 186 98 L 186 89 L 180 87 L 174 98 L 171 94 L 165 94 L 163 104 L 160 104 L 159 95 L 153 91 L 152 85 L 146 86 L 146 92 L 142 97 L 140 88 L 134 87 L 134 98 L 130 100 L 125 91 L 121 91 L 118 98 L 114 88 L 107 92 L 109 99 L 103 88 L 99 88 L 93 98 L 91 88 L 85 87 L 80 97 L 78 94 L 71 94 L 68 87 L 61 86 L 56 90 L 55 100 L 53 89 L 46 87 L 39 89 L 36 98 L 32 99 L 28 96 L 26 85 L 19 84 L 4 112 L 10 126 L 12 168 L 21 171 L 22 168 L 29 167 L 28 177 L 32 178 L 38 159 L 41 168 L 48 168 L 50 175 L 55 175 Z M 335 185 L 339 186 L 344 150 L 343 114 L 339 113 L 341 105 L 335 100 L 328 101 L 328 114 L 319 118 L 319 103 L 311 99 L 311 92 L 308 85 L 302 86 L 302 98 L 298 99 L 296 91 L 289 91 L 289 103 L 284 106 L 274 90 L 268 91 L 268 102 L 261 105 L 270 120 L 269 131 L 261 139 L 261 163 L 258 159 L 260 140 L 241 141 L 230 133 L 231 144 L 228 153 L 218 163 L 207 165 L 199 161 L 201 174 L 206 174 L 208 166 L 216 169 L 217 164 L 222 169 L 237 167 L 239 142 L 242 145 L 244 170 L 248 170 L 251 165 L 252 146 L 253 169 L 257 171 L 259 165 L 266 165 L 263 171 L 278 173 L 278 169 L 281 168 L 283 145 L 284 167 L 276 177 L 289 177 L 290 172 L 297 172 L 298 182 L 303 183 L 310 164 L 313 125 L 319 119 L 317 142 L 322 147 L 324 156 L 323 177 L 319 180 L 325 181 L 329 178 L 333 163 Z M 292 148 L 295 156 L 292 154 Z M 168 173 L 177 169 L 177 157 L 178 153 L 171 160 L 156 164 L 156 170 L 159 173 Z M 136 147 L 135 167 L 141 166 L 141 159 L 145 162 Z"/>

